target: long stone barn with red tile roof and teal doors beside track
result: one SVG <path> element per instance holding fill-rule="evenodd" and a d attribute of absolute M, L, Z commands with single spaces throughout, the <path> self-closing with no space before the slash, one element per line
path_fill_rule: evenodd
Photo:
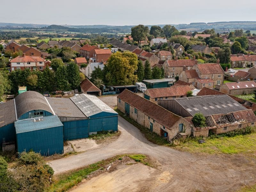
<path fill-rule="evenodd" d="M 179 133 L 191 134 L 190 124 L 184 118 L 127 89 L 117 96 L 117 108 L 168 141 Z"/>

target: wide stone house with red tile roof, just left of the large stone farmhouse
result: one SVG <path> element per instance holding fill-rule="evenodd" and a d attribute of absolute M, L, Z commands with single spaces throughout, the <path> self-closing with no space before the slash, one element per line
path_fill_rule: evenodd
<path fill-rule="evenodd" d="M 165 76 L 175 77 L 179 76 L 180 73 L 184 70 L 191 69 L 194 65 L 197 64 L 195 59 L 180 59 L 176 56 L 175 60 L 166 60 L 164 61 L 164 74 Z"/>

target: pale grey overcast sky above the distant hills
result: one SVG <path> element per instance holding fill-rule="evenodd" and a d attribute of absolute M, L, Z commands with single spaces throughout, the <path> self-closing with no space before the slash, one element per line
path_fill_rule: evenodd
<path fill-rule="evenodd" d="M 255 21 L 255 5 L 255 0 L 4 0 L 0 22 L 152 25 Z"/>

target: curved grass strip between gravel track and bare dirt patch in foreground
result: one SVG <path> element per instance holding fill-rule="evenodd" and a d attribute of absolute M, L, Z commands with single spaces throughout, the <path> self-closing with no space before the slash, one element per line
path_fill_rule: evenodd
<path fill-rule="evenodd" d="M 83 179 L 86 179 L 90 173 L 92 173 L 98 169 L 103 169 L 103 167 L 107 166 L 108 164 L 110 164 L 116 160 L 122 160 L 122 158 L 124 156 L 128 156 L 131 159 L 134 159 L 136 162 L 140 162 L 140 163 L 150 166 L 150 164 L 148 162 L 148 157 L 145 155 L 141 155 L 141 154 L 117 155 L 117 156 L 111 157 L 109 159 L 102 160 L 97 163 L 88 165 L 80 170 L 76 170 L 76 171 L 69 172 L 66 174 L 61 174 L 59 177 L 57 177 L 53 181 L 53 184 L 49 188 L 47 188 L 45 191 L 48 191 L 48 192 L 67 191 L 68 189 L 77 185 Z"/>

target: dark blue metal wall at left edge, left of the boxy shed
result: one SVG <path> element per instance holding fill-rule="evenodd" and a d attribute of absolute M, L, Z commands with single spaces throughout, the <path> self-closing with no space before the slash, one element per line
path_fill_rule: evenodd
<path fill-rule="evenodd" d="M 1 127 L 0 128 L 0 144 L 2 144 L 3 138 L 5 138 L 6 142 L 15 141 L 15 134 L 16 132 L 15 132 L 14 123 Z"/>

